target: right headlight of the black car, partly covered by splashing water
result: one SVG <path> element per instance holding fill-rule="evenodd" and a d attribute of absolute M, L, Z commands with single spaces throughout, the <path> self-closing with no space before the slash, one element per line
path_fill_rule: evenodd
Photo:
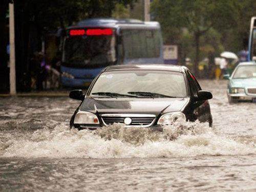
<path fill-rule="evenodd" d="M 159 118 L 157 124 L 167 125 L 167 124 L 172 124 L 177 120 L 186 121 L 185 114 L 181 112 L 166 113 Z"/>

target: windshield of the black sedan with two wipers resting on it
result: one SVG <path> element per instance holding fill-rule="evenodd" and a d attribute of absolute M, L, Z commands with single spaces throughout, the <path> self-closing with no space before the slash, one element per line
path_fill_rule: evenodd
<path fill-rule="evenodd" d="M 95 82 L 91 97 L 186 97 L 186 83 L 180 72 L 111 71 Z"/>

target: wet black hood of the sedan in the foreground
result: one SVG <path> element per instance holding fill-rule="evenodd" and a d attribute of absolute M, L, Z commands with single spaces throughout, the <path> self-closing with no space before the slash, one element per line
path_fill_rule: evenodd
<path fill-rule="evenodd" d="M 81 111 L 155 114 L 183 111 L 189 98 L 85 98 Z"/>

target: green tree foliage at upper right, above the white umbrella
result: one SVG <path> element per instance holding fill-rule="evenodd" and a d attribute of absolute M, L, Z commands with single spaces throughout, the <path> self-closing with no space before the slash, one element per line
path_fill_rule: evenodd
<path fill-rule="evenodd" d="M 218 54 L 223 50 L 243 49 L 250 18 L 256 15 L 256 3 L 254 0 L 155 0 L 151 12 L 161 24 L 165 43 L 180 44 L 182 55 L 189 55 L 197 62 L 210 50 Z"/>

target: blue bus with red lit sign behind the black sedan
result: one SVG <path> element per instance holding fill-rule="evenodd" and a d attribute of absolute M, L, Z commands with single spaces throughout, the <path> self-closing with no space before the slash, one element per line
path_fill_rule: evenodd
<path fill-rule="evenodd" d="M 61 65 L 63 86 L 89 86 L 106 66 L 128 63 L 163 63 L 158 22 L 93 18 L 67 29 Z"/>

